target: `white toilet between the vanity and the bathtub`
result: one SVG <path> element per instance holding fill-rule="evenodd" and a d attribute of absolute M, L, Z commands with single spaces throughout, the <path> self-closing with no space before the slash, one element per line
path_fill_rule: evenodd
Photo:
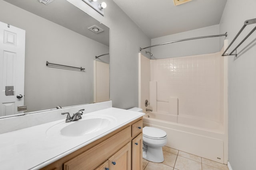
<path fill-rule="evenodd" d="M 142 112 L 141 108 L 133 107 L 132 111 Z M 143 158 L 151 162 L 163 162 L 162 147 L 167 143 L 166 132 L 155 127 L 143 127 Z"/>

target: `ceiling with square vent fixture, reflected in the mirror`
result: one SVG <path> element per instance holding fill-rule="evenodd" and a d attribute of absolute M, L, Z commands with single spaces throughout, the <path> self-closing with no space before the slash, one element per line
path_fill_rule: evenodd
<path fill-rule="evenodd" d="M 48 5 L 44 5 L 38 0 L 4 1 L 109 46 L 109 28 L 66 0 L 54 0 Z M 97 25 L 104 31 L 98 34 L 93 33 L 88 29 L 93 25 Z"/>

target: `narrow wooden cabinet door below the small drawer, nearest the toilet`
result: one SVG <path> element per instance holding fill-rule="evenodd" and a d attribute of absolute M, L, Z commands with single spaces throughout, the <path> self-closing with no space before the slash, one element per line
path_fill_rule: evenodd
<path fill-rule="evenodd" d="M 132 140 L 132 170 L 142 170 L 142 133 Z"/>

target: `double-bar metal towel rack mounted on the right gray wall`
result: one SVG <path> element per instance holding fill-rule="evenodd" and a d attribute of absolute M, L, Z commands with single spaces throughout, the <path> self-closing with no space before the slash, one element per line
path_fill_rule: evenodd
<path fill-rule="evenodd" d="M 246 37 L 244 37 L 244 39 L 234 48 L 233 51 L 231 51 L 231 53 L 229 54 L 225 54 L 226 51 L 228 51 L 228 49 L 231 47 L 231 45 L 234 43 L 234 41 L 236 41 L 237 37 L 240 35 L 240 33 L 244 30 L 244 28 L 247 26 L 247 25 L 250 25 L 250 24 L 253 24 L 253 23 L 256 23 L 256 18 L 254 19 L 251 19 L 251 20 L 246 20 L 244 21 L 244 25 L 242 26 L 242 28 L 240 29 L 240 31 L 236 34 L 236 36 L 234 37 L 234 39 L 232 40 L 232 42 L 230 43 L 230 45 L 228 45 L 227 49 L 224 51 L 224 53 L 222 54 L 222 56 L 228 56 L 228 55 L 235 55 L 237 57 L 237 53 L 236 54 L 233 54 L 234 51 L 236 51 L 236 49 L 242 44 L 244 43 L 244 41 L 256 30 L 256 26 L 252 29 L 252 31 L 250 31 L 250 33 L 248 33 L 248 35 Z"/>

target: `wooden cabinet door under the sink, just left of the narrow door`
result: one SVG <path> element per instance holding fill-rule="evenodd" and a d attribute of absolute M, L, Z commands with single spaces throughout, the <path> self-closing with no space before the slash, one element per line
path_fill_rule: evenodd
<path fill-rule="evenodd" d="M 111 156 L 108 165 L 110 170 L 131 170 L 131 143 Z"/>

